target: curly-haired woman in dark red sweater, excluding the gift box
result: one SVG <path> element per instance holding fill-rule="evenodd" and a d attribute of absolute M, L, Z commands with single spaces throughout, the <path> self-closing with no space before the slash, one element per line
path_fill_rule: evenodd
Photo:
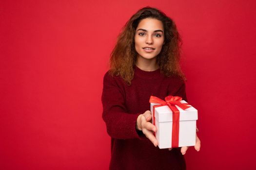
<path fill-rule="evenodd" d="M 179 51 L 175 23 L 156 8 L 140 9 L 119 34 L 102 92 L 111 170 L 186 169 L 183 154 L 188 147 L 159 149 L 149 111 L 151 95 L 187 100 Z M 198 137 L 195 149 L 200 149 Z"/>

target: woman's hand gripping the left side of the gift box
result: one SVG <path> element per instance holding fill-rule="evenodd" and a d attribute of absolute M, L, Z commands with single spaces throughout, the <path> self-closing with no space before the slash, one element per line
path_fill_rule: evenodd
<path fill-rule="evenodd" d="M 153 132 L 157 132 L 157 127 L 149 122 L 151 119 L 151 111 L 145 111 L 145 113 L 138 116 L 136 122 L 136 129 L 142 131 L 143 134 L 157 147 L 158 140 L 153 134 Z"/>

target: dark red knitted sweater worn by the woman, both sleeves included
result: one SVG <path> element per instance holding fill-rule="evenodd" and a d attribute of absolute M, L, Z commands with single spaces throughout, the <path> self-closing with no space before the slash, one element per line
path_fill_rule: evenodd
<path fill-rule="evenodd" d="M 159 149 L 136 130 L 139 114 L 150 110 L 149 98 L 167 95 L 186 99 L 184 81 L 165 77 L 160 70 L 143 71 L 135 66 L 132 85 L 107 72 L 103 80 L 102 118 L 111 136 L 110 170 L 185 170 L 179 149 Z"/>

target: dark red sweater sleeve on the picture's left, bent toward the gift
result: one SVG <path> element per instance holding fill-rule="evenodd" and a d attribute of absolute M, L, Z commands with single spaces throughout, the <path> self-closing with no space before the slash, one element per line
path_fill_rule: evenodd
<path fill-rule="evenodd" d="M 103 79 L 101 102 L 102 118 L 109 136 L 118 139 L 140 138 L 136 131 L 136 121 L 140 113 L 127 113 L 124 94 L 118 82 L 108 72 Z"/>

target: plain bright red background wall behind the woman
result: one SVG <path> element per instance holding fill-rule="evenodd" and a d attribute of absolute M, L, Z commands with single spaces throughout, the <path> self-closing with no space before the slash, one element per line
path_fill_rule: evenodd
<path fill-rule="evenodd" d="M 110 137 L 102 78 L 118 33 L 141 7 L 174 18 L 201 151 L 188 170 L 255 169 L 254 0 L 0 2 L 0 167 L 103 170 Z"/>

